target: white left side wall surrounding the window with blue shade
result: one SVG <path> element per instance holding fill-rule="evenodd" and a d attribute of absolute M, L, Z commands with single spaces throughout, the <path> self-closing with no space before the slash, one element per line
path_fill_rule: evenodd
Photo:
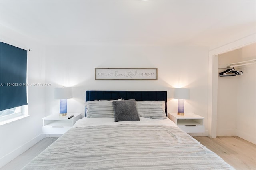
<path fill-rule="evenodd" d="M 29 48 L 28 83 L 44 83 L 44 46 L 2 25 L 1 40 Z M 28 114 L 30 116 L 1 125 L 1 167 L 45 137 L 42 135 L 42 117 L 45 115 L 44 91 L 44 87 L 28 87 Z"/>

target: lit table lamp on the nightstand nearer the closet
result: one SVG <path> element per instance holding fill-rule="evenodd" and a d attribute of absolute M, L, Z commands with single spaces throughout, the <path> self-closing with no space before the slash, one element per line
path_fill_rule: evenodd
<path fill-rule="evenodd" d="M 178 115 L 184 116 L 184 99 L 189 99 L 189 89 L 175 88 L 174 99 L 178 99 Z"/>

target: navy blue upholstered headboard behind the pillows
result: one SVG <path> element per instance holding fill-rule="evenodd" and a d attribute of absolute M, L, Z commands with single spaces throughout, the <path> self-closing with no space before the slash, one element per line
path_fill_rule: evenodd
<path fill-rule="evenodd" d="M 118 100 L 118 99 L 135 99 L 142 101 L 164 101 L 165 113 L 167 115 L 167 92 L 166 91 L 86 91 L 86 100 Z M 85 113 L 86 115 L 86 113 Z"/>

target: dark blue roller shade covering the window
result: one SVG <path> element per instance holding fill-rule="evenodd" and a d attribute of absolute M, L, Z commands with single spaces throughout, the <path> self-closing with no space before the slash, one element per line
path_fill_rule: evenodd
<path fill-rule="evenodd" d="M 27 51 L 0 42 L 0 111 L 27 105 Z"/>

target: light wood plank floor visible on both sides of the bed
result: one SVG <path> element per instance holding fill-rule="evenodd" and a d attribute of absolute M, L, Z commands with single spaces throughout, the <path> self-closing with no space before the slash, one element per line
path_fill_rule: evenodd
<path fill-rule="evenodd" d="M 236 170 L 256 170 L 255 144 L 237 136 L 219 136 L 214 139 L 208 137 L 194 138 L 218 154 Z M 44 138 L 10 163 L 3 166 L 1 170 L 20 170 L 54 141 L 51 138 Z"/>

